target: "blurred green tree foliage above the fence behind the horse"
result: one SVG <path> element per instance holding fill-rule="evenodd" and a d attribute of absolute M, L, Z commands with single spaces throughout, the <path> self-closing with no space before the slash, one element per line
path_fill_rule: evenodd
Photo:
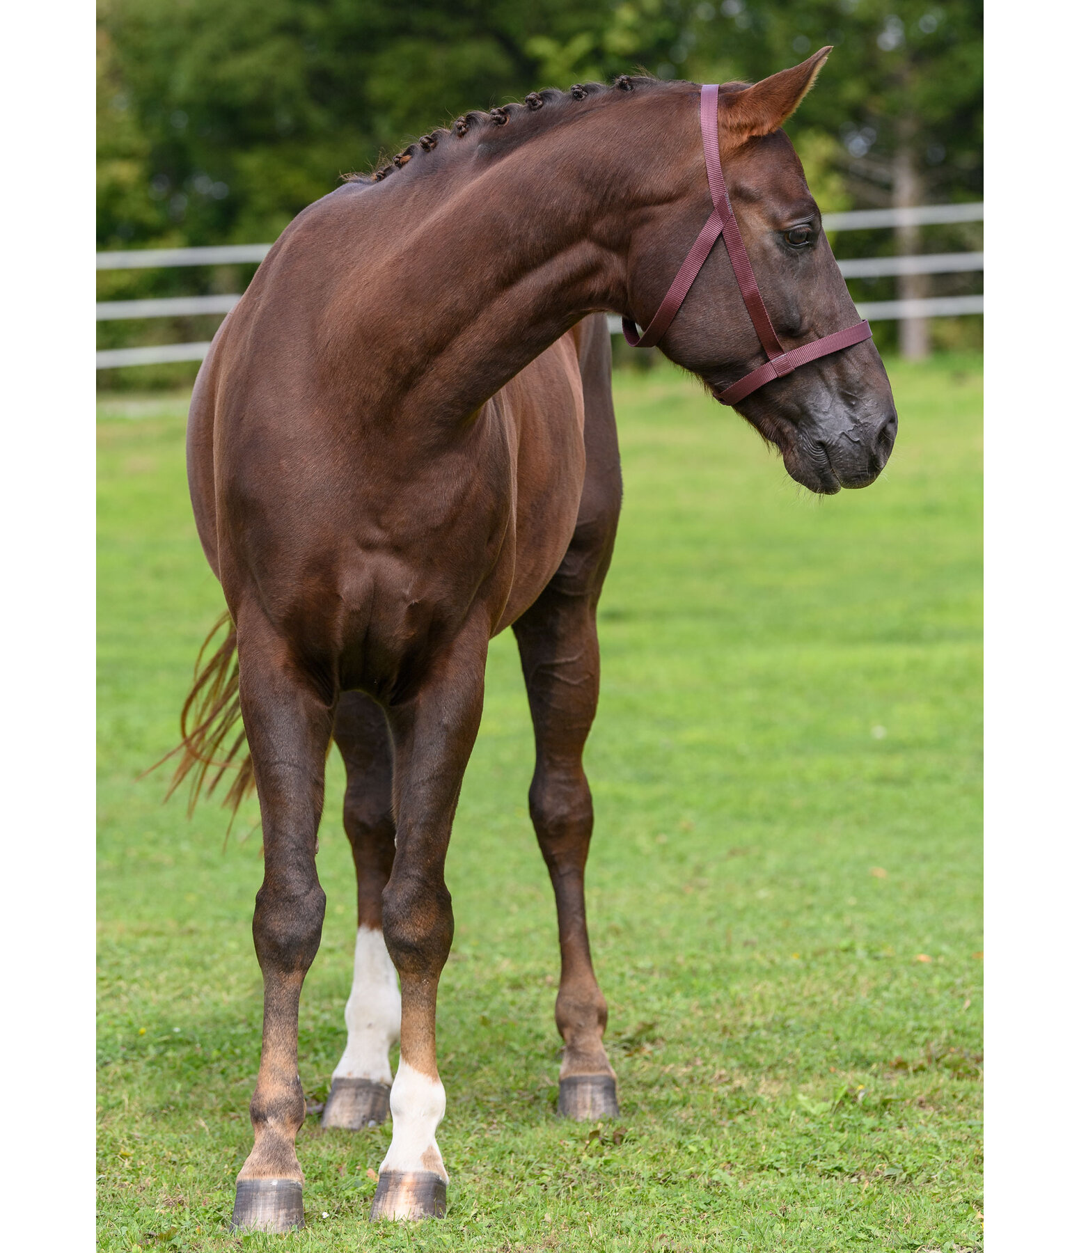
<path fill-rule="evenodd" d="M 466 109 L 638 66 L 757 79 L 825 43 L 836 51 L 791 132 L 850 184 L 818 180 L 826 208 L 887 182 L 904 119 L 937 194 L 977 194 L 980 13 L 975 0 L 103 0 L 99 244 L 272 239 L 342 170 Z"/>

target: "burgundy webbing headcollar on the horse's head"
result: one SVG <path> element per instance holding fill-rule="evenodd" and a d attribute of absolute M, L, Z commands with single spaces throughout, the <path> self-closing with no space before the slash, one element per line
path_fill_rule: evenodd
<path fill-rule="evenodd" d="M 674 276 L 674 282 L 668 288 L 648 327 L 638 336 L 637 325 L 633 318 L 624 317 L 622 320 L 622 330 L 634 348 L 650 348 L 658 343 L 663 338 L 667 327 L 670 326 L 674 315 L 682 307 L 682 302 L 693 286 L 693 279 L 708 258 L 708 253 L 712 252 L 716 241 L 722 234 L 727 244 L 727 253 L 731 257 L 731 264 L 734 267 L 734 277 L 738 279 L 742 299 L 746 302 L 746 308 L 753 320 L 753 326 L 757 330 L 757 336 L 764 347 L 764 352 L 768 353 L 766 365 L 758 366 L 757 370 L 751 371 L 743 378 L 739 378 L 737 383 L 732 383 L 726 391 L 719 393 L 719 400 L 724 405 L 736 405 L 744 396 L 748 396 L 749 392 L 763 387 L 764 383 L 771 382 L 773 378 L 791 373 L 798 366 L 805 366 L 807 361 L 816 361 L 817 357 L 827 357 L 831 352 L 838 352 L 841 348 L 850 348 L 851 345 L 861 343 L 862 340 L 870 340 L 873 332 L 870 330 L 868 322 L 862 321 L 856 326 L 848 326 L 845 331 L 833 331 L 821 340 L 812 340 L 810 343 L 803 343 L 800 348 L 791 348 L 790 352 L 783 350 L 776 335 L 776 328 L 772 326 L 772 320 L 768 317 L 768 311 L 764 308 L 764 302 L 761 299 L 761 289 L 757 287 L 757 279 L 753 277 L 753 267 L 749 264 L 746 244 L 742 242 L 738 219 L 734 217 L 734 209 L 731 207 L 731 198 L 727 194 L 727 184 L 723 182 L 723 168 L 719 164 L 718 112 L 719 88 L 714 83 L 702 86 L 701 137 L 704 140 L 704 165 L 708 169 L 708 189 L 712 193 L 712 214 L 704 223 L 701 234 L 697 236 L 697 242 L 689 249 L 685 261 L 682 262 L 678 273 Z"/>

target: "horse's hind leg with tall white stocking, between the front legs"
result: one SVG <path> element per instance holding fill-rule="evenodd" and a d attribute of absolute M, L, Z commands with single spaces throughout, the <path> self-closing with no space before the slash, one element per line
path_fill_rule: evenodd
<path fill-rule="evenodd" d="M 390 1045 L 401 1031 L 397 972 L 382 937 L 382 891 L 394 868 L 394 754 L 386 714 L 343 692 L 333 738 L 347 773 L 345 832 L 356 863 L 356 955 L 345 1006 L 348 1042 L 333 1069 L 323 1126 L 357 1131 L 390 1113 Z"/>

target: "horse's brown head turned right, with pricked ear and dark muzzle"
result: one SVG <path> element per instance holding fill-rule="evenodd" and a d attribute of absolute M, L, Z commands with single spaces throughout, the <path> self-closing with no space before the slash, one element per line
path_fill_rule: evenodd
<path fill-rule="evenodd" d="M 857 322 L 802 164 L 779 129 L 810 90 L 830 49 L 753 86 L 727 84 L 718 98 L 719 152 L 764 306 L 786 350 Z M 655 308 L 657 274 L 673 274 L 699 228 L 703 167 L 699 130 L 687 152 L 685 194 L 670 204 L 664 238 L 653 234 L 655 268 L 642 276 L 643 303 Z M 673 227 L 673 229 L 672 229 Z M 669 279 L 668 279 L 669 282 Z M 659 288 L 662 296 L 662 286 Z M 662 341 L 673 361 L 699 375 L 718 396 L 767 360 L 736 281 L 717 243 Z M 800 366 L 737 402 L 783 455 L 787 472 L 812 491 L 865 487 L 881 472 L 896 437 L 887 375 L 871 340 Z"/>

